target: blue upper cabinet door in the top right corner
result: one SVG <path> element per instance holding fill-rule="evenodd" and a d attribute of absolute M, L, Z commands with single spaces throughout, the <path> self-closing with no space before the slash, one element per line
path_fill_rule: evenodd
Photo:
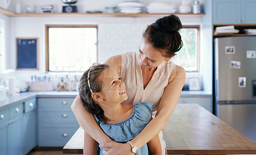
<path fill-rule="evenodd" d="M 243 0 L 242 2 L 242 21 L 243 24 L 256 24 L 256 1 Z"/>

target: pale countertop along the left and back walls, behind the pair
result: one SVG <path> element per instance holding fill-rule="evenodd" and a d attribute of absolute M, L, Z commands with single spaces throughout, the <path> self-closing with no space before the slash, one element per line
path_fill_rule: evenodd
<path fill-rule="evenodd" d="M 6 100 L 0 101 L 0 110 L 11 107 L 22 101 L 31 98 L 76 98 L 77 91 L 35 91 L 35 92 L 20 92 L 15 96 L 7 96 Z M 211 96 L 211 92 L 206 91 L 182 91 L 180 97 L 202 97 Z"/>

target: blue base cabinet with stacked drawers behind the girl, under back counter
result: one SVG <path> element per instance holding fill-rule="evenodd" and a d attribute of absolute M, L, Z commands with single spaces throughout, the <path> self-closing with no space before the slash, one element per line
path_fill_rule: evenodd
<path fill-rule="evenodd" d="M 63 147 L 79 128 L 70 106 L 74 98 L 38 98 L 38 145 Z"/>

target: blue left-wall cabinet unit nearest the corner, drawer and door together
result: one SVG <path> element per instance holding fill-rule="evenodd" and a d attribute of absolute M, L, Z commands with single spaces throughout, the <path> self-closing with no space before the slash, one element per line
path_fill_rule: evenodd
<path fill-rule="evenodd" d="M 25 101 L 22 124 L 23 154 L 28 154 L 37 145 L 36 118 L 36 98 Z"/>

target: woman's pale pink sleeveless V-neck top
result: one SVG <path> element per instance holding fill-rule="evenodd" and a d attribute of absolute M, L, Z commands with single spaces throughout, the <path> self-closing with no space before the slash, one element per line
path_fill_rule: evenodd
<path fill-rule="evenodd" d="M 168 80 L 172 74 L 175 64 L 170 61 L 163 61 L 155 71 L 150 82 L 145 89 L 143 88 L 142 71 L 139 65 L 139 52 L 126 52 L 121 54 L 122 68 L 121 80 L 125 83 L 126 94 L 128 99 L 124 101 L 125 104 L 137 103 L 145 101 L 153 104 L 154 118 L 159 102 L 163 96 L 165 87 L 168 85 Z M 163 133 L 159 133 L 159 139 L 162 146 L 162 152 L 165 154 L 166 145 L 163 140 Z"/>

